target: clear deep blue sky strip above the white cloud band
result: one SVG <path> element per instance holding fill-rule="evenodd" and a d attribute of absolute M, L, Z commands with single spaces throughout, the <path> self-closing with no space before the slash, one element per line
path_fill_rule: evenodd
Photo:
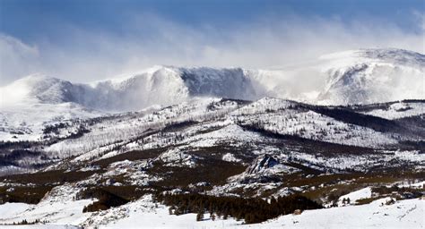
<path fill-rule="evenodd" d="M 410 14 L 423 12 L 421 0 L 1 0 L 1 32 L 26 42 L 66 35 L 62 24 L 85 30 L 123 32 L 123 24 L 138 13 L 152 13 L 190 27 L 210 25 L 224 30 L 266 16 L 362 17 L 391 21 L 405 30 L 418 30 Z M 130 28 L 131 29 L 131 28 Z"/>

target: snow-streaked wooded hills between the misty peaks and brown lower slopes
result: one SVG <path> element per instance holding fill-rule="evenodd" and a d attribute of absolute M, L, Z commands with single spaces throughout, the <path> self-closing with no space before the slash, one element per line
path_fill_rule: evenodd
<path fill-rule="evenodd" d="M 185 161 L 183 166 L 192 166 L 201 157 L 186 152 L 223 146 L 233 149 L 222 151 L 215 157 L 243 163 L 244 158 L 245 162 L 250 162 L 258 154 L 279 152 L 279 147 L 273 147 L 275 138 L 289 140 L 291 144 L 287 144 L 286 148 L 291 148 L 288 154 L 292 158 L 326 169 L 351 167 L 365 170 L 376 163 L 378 157 L 379 163 L 395 158 L 395 148 L 407 150 L 403 155 L 419 158 L 411 160 L 410 157 L 400 157 L 406 162 L 422 160 L 421 155 L 415 156 L 415 150 L 405 143 L 423 140 L 425 134 L 425 127 L 421 125 L 425 103 L 419 100 L 403 101 L 403 107 L 414 108 L 394 110 L 386 107 L 396 106 L 397 103 L 334 107 L 311 106 L 278 98 L 262 98 L 255 102 L 194 98 L 174 106 L 124 114 L 100 114 L 73 105 L 40 104 L 4 113 L 0 140 L 16 142 L 17 145 L 4 144 L 0 152 L 13 155 L 14 150 L 20 148 L 19 142 L 30 140 L 34 146 L 22 145 L 22 149 L 37 151 L 44 158 L 40 160 L 20 154 L 20 157 L 11 157 L 11 161 L 7 159 L 8 163 L 25 168 L 67 157 L 74 157 L 74 163 L 87 163 L 92 158 L 114 157 L 131 150 L 169 148 L 164 149 L 159 157 L 161 162 L 180 166 L 174 161 L 182 159 Z M 58 109 L 62 106 L 64 109 Z M 40 107 L 42 111 L 37 110 Z M 50 115 L 50 122 L 43 121 L 46 114 Z M 394 116 L 395 119 L 383 119 L 373 114 L 386 118 Z M 13 120 L 26 120 L 28 123 L 11 122 Z M 300 140 L 310 142 L 301 144 Z M 362 154 L 351 158 L 344 155 L 326 159 L 318 151 L 314 151 L 314 156 L 309 155 L 313 152 L 305 155 L 305 150 L 309 151 L 307 148 L 317 142 L 325 144 L 321 150 L 324 155 L 328 154 L 329 148 L 340 151 L 342 149 L 338 145 L 344 145 L 367 148 L 361 151 L 368 154 L 375 149 L 389 149 L 391 156 L 382 157 L 378 153 L 375 156 Z M 413 146 L 413 149 L 420 148 Z M 249 153 L 239 154 L 239 150 Z M 342 157 L 351 158 L 351 163 L 344 162 Z M 282 159 L 287 160 L 288 156 Z"/>

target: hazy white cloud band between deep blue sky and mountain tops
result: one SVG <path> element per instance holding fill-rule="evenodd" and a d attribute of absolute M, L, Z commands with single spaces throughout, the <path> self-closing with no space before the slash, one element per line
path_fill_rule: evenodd
<path fill-rule="evenodd" d="M 418 15 L 422 17 L 420 27 L 423 13 Z M 343 22 L 292 15 L 222 29 L 209 25 L 192 28 L 142 14 L 123 28 L 123 33 L 113 34 L 70 27 L 69 38 L 62 45 L 50 41 L 30 46 L 2 35 L 1 84 L 33 72 L 71 81 L 96 81 L 154 64 L 267 68 L 361 47 L 425 53 L 424 30 L 403 30 L 371 19 Z"/>

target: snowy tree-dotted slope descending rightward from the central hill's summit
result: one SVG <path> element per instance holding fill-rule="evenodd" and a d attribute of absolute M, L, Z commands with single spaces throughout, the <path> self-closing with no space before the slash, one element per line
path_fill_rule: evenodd
<path fill-rule="evenodd" d="M 262 98 L 232 113 L 242 125 L 258 125 L 265 131 L 296 135 L 311 140 L 322 140 L 354 146 L 378 147 L 397 141 L 386 134 L 351 123 L 343 123 L 312 110 L 297 108 L 298 103 Z M 373 135 L 374 138 L 369 138 Z"/>

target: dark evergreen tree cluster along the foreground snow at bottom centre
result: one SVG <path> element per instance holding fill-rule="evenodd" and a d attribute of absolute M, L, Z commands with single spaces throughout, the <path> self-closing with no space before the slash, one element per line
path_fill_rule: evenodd
<path fill-rule="evenodd" d="M 272 198 L 270 201 L 260 198 L 215 197 L 198 193 L 157 194 L 156 200 L 170 206 L 169 213 L 182 215 L 196 213 L 196 220 L 204 219 L 204 213 L 210 216 L 236 220 L 244 219 L 246 224 L 264 222 L 277 216 L 291 214 L 296 209 L 323 208 L 317 202 L 300 195 Z"/>

